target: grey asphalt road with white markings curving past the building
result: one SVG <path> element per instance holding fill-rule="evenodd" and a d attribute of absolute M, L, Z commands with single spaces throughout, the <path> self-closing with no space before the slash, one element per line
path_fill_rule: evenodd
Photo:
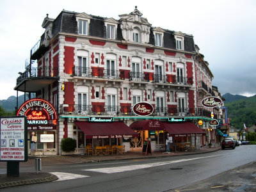
<path fill-rule="evenodd" d="M 191 156 L 44 166 L 60 179 L 1 191 L 168 191 L 254 161 L 256 145 L 243 145 Z M 20 172 L 35 171 L 22 167 Z"/>

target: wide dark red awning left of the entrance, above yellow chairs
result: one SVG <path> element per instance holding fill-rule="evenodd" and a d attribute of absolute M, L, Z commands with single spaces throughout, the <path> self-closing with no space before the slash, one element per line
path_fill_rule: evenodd
<path fill-rule="evenodd" d="M 75 124 L 84 132 L 86 139 L 138 137 L 138 133 L 123 122 L 75 122 Z"/>

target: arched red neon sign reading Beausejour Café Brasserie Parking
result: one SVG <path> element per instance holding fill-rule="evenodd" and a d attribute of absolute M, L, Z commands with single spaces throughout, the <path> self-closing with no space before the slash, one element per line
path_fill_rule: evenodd
<path fill-rule="evenodd" d="M 17 116 L 28 118 L 28 130 L 54 130 L 57 128 L 58 116 L 50 102 L 35 98 L 24 102 L 17 111 Z"/>

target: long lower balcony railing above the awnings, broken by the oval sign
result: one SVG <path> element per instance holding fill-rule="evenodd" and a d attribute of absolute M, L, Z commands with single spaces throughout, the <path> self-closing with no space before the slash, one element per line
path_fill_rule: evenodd
<path fill-rule="evenodd" d="M 61 115 L 111 115 L 134 116 L 131 106 L 102 105 L 60 105 Z M 202 108 L 166 108 L 155 107 L 152 116 L 205 116 L 211 118 L 211 111 Z"/>

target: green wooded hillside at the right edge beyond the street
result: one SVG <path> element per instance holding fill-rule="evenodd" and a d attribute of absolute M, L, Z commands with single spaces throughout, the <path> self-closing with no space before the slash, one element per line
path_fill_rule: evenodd
<path fill-rule="evenodd" d="M 226 97 L 224 98 L 226 99 Z M 232 102 L 225 100 L 225 106 L 227 106 L 228 118 L 231 119 L 232 126 L 236 129 L 243 129 L 244 124 L 246 127 L 252 127 L 253 124 L 256 124 L 256 95 L 234 99 Z"/>

